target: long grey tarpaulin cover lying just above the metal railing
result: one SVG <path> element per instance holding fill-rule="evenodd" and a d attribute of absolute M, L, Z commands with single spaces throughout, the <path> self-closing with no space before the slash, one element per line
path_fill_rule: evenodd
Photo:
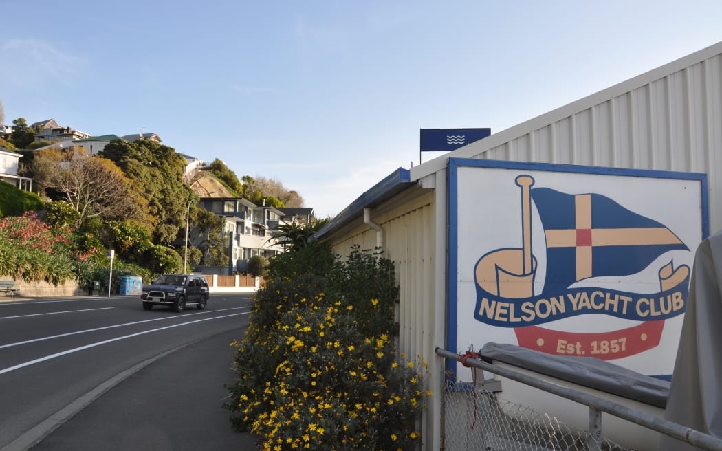
<path fill-rule="evenodd" d="M 664 408 L 669 382 L 595 357 L 554 356 L 513 344 L 487 343 L 482 359 L 497 360 L 622 398 Z"/>

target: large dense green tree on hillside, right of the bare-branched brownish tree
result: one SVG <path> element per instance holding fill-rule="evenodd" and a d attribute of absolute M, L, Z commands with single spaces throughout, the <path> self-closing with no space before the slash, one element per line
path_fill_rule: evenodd
<path fill-rule="evenodd" d="M 111 141 L 99 156 L 115 162 L 147 200 L 148 214 L 153 218 L 153 241 L 173 243 L 186 225 L 188 201 L 197 200 L 183 183 L 186 158 L 156 141 L 123 139 Z"/>

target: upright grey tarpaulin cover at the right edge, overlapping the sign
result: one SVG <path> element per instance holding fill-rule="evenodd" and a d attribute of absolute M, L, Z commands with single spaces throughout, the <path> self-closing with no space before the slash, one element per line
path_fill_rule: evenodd
<path fill-rule="evenodd" d="M 722 438 L 722 234 L 695 253 L 666 419 Z M 697 450 L 663 437 L 662 451 Z"/>

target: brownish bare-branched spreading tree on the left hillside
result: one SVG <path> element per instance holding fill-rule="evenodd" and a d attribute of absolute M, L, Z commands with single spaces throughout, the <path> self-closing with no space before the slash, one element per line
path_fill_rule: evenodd
<path fill-rule="evenodd" d="M 35 181 L 54 200 L 71 204 L 79 213 L 76 228 L 99 216 L 104 220 L 143 220 L 144 201 L 131 188 L 123 172 L 108 159 L 76 157 L 45 151 L 35 156 Z"/>

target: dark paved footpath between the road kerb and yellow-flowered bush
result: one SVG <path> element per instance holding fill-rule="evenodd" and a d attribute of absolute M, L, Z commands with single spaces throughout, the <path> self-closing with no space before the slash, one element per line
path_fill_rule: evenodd
<path fill-rule="evenodd" d="M 139 369 L 45 437 L 36 451 L 256 450 L 222 408 L 243 330 L 191 343 Z"/>

